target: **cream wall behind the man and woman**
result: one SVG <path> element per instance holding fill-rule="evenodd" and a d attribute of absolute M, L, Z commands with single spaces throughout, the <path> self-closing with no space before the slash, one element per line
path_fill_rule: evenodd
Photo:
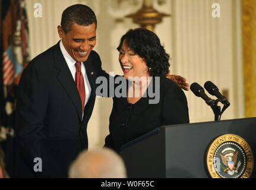
<path fill-rule="evenodd" d="M 239 1 L 167 0 L 162 6 L 154 1 L 156 9 L 172 14 L 172 17 L 164 18 L 163 23 L 158 24 L 155 29 L 166 47 L 166 52 L 172 57 L 170 70 L 172 73 L 186 77 L 190 84 L 197 81 L 203 85 L 207 80 L 212 80 L 220 90 L 228 89 L 232 106 L 227 109 L 223 119 L 244 116 L 243 97 L 242 93 L 239 93 L 239 89 L 243 88 L 241 49 L 239 48 L 241 45 L 238 22 L 241 8 Z M 42 18 L 33 16 L 33 5 L 37 2 L 42 4 Z M 97 45 L 94 50 L 102 59 L 103 69 L 107 72 L 122 74 L 116 47 L 122 34 L 128 29 L 138 27 L 132 23 L 131 19 L 124 16 L 137 11 L 141 4 L 132 7 L 128 3 L 131 1 L 127 1 L 118 7 L 116 2 L 117 0 L 26 0 L 31 58 L 58 42 L 57 26 L 61 22 L 61 14 L 65 8 L 77 3 L 86 4 L 97 15 Z M 220 2 L 221 18 L 209 17 L 210 5 L 213 2 Z M 116 22 L 118 18 L 122 20 Z M 213 68 L 212 72 L 207 71 L 209 66 Z M 220 71 L 223 67 L 227 72 Z M 238 90 L 236 90 L 237 87 Z M 192 122 L 213 121 L 213 113 L 203 100 L 195 97 L 191 91 L 185 94 L 188 98 Z M 96 98 L 93 115 L 88 125 L 89 148 L 104 144 L 108 134 L 111 109 L 112 99 Z"/>

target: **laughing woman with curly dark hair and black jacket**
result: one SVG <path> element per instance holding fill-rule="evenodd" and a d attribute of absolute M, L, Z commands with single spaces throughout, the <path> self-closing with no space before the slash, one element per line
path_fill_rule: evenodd
<path fill-rule="evenodd" d="M 165 77 L 170 56 L 159 37 L 146 29 L 131 29 L 117 49 L 128 81 L 127 96 L 113 97 L 105 146 L 119 152 L 125 143 L 162 125 L 189 123 L 184 92 Z"/>

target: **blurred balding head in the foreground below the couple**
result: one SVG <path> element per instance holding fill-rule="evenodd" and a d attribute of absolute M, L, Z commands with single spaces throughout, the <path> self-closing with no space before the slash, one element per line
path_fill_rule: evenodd
<path fill-rule="evenodd" d="M 127 178 L 124 161 L 109 148 L 82 151 L 69 169 L 70 178 Z"/>

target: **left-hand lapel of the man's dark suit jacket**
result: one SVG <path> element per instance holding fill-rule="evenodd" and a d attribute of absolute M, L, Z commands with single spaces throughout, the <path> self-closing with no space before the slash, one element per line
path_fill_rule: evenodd
<path fill-rule="evenodd" d="M 62 84 L 62 87 L 67 92 L 68 96 L 74 103 L 75 108 L 77 109 L 77 114 L 80 118 L 82 118 L 82 103 L 79 92 L 77 90 L 77 86 L 75 85 L 75 81 L 72 77 L 72 74 L 68 68 L 67 62 L 62 55 L 61 49 L 59 47 L 59 43 L 55 46 L 54 49 L 54 58 L 55 58 L 55 67 L 59 69 L 59 74 L 57 78 L 59 82 Z"/>

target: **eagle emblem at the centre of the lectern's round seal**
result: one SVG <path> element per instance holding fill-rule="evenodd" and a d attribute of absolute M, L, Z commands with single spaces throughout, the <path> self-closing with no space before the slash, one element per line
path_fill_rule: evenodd
<path fill-rule="evenodd" d="M 225 168 L 223 168 L 223 172 L 228 173 L 230 176 L 234 175 L 234 173 L 238 173 L 238 169 L 241 166 L 241 161 L 238 162 L 238 151 L 234 148 L 225 148 L 219 154 L 222 163 Z M 236 163 L 238 164 L 236 165 Z"/>

